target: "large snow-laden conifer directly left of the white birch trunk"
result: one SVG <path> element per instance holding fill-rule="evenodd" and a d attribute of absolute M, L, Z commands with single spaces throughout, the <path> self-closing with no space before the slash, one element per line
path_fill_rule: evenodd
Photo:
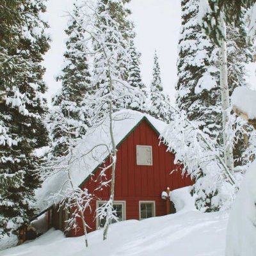
<path fill-rule="evenodd" d="M 197 21 L 198 0 L 182 0 L 176 103 L 189 120 L 220 140 L 221 109 L 218 68 L 212 60 L 214 45 Z"/>

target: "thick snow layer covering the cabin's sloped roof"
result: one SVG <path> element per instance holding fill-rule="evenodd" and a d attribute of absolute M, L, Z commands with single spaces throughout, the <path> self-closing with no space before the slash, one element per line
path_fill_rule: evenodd
<path fill-rule="evenodd" d="M 152 116 L 132 110 L 118 111 L 113 114 L 113 118 L 113 132 L 116 145 L 118 145 L 143 118 L 147 118 L 159 134 L 161 134 L 167 126 L 167 124 Z M 40 211 L 44 211 L 52 204 L 60 202 L 65 197 L 65 191 L 67 191 L 70 186 L 70 182 L 67 182 L 67 166 L 70 166 L 69 170 L 74 186 L 78 187 L 86 177 L 109 156 L 109 150 L 111 149 L 109 118 L 106 118 L 102 124 L 90 129 L 86 135 L 79 140 L 72 155 L 63 157 L 63 163 L 61 163 L 63 168 L 45 179 L 42 188 L 36 190 L 36 199 Z"/>

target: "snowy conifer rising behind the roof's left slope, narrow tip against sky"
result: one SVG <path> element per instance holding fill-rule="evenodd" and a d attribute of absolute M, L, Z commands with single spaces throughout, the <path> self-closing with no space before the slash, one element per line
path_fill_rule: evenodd
<path fill-rule="evenodd" d="M 86 132 L 88 121 L 83 115 L 82 103 L 90 87 L 90 70 L 86 52 L 79 42 L 83 40 L 83 28 L 77 24 L 78 8 L 74 5 L 66 34 L 66 52 L 64 54 L 65 67 L 61 76 L 61 92 L 52 99 L 52 109 L 48 117 L 49 131 L 51 134 L 52 157 L 61 157 L 68 154 L 68 149 L 75 143 L 76 138 L 81 138 Z M 78 44 L 77 44 L 78 42 Z"/>

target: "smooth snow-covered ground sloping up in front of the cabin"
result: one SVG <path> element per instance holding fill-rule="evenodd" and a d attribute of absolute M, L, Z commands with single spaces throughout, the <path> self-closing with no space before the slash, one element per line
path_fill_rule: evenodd
<path fill-rule="evenodd" d="M 195 210 L 189 187 L 172 192 L 180 202 L 176 214 L 129 220 L 109 227 L 108 239 L 102 230 L 83 237 L 66 238 L 60 230 L 49 230 L 35 241 L 2 251 L 1 256 L 224 256 L 227 214 Z M 183 204 L 183 206 L 182 206 Z M 177 206 L 177 205 L 176 205 Z"/>

